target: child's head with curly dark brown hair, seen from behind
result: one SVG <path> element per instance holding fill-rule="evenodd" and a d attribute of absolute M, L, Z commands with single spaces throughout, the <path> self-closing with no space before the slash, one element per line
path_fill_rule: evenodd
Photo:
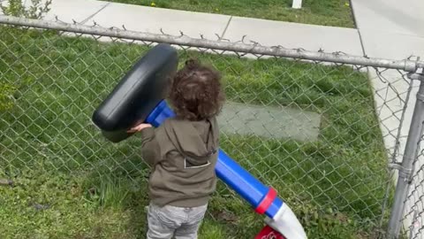
<path fill-rule="evenodd" d="M 178 118 L 206 120 L 221 112 L 224 94 L 221 74 L 196 60 L 186 61 L 170 85 L 170 104 Z"/>

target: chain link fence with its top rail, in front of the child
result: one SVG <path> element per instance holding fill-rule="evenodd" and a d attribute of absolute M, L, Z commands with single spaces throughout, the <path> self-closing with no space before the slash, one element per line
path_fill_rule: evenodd
<path fill-rule="evenodd" d="M 0 235 L 25 237 L 26 227 L 50 235 L 55 221 L 63 237 L 120 238 L 113 236 L 121 229 L 142 235 L 149 168 L 140 139 L 109 143 L 91 116 L 157 42 L 176 47 L 180 64 L 200 58 L 223 73 L 221 147 L 278 191 L 309 237 L 385 235 L 416 89 L 406 74 L 422 62 L 11 17 L 0 18 L 0 31 L 0 180 L 15 183 L 0 188 L 0 203 L 13 209 L 4 209 L 9 215 L 0 219 L 9 227 Z M 420 178 L 415 187 L 422 187 Z M 416 191 L 408 197 L 414 219 L 423 212 Z M 20 213 L 34 213 L 27 207 L 42 216 L 19 224 Z M 132 223 L 140 227 L 122 226 L 132 224 L 127 213 L 134 210 Z M 204 238 L 252 238 L 263 226 L 222 183 L 209 212 Z"/>

